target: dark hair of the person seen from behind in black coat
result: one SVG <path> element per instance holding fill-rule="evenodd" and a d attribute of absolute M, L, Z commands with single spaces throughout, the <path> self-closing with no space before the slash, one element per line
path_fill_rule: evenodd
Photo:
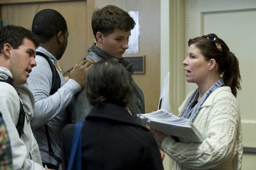
<path fill-rule="evenodd" d="M 102 60 L 90 68 L 86 95 L 90 104 L 111 103 L 127 106 L 133 95 L 132 78 L 120 63 Z"/>

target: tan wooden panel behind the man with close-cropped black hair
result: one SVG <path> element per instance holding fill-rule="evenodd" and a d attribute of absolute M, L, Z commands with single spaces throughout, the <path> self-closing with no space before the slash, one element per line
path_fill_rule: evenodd
<path fill-rule="evenodd" d="M 90 26 L 93 7 L 94 0 L 0 0 L 0 16 L 8 24 L 31 29 L 33 17 L 38 11 L 51 8 L 60 12 L 67 21 L 69 31 L 68 46 L 60 59 L 61 68 L 65 72 L 81 61 L 94 42 Z"/>

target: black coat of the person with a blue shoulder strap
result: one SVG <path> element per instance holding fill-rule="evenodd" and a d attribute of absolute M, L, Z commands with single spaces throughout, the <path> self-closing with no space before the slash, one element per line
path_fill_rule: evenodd
<path fill-rule="evenodd" d="M 63 169 L 72 146 L 74 124 L 62 132 Z M 75 169 L 75 168 L 73 168 Z M 163 169 L 153 134 L 138 125 L 129 112 L 113 104 L 97 104 L 82 129 L 82 169 Z"/>

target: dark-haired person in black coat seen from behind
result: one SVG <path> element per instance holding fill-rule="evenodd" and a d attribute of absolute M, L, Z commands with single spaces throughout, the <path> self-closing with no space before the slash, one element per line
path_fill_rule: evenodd
<path fill-rule="evenodd" d="M 154 135 L 126 109 L 134 91 L 132 78 L 122 64 L 107 59 L 93 65 L 86 94 L 93 107 L 81 132 L 82 169 L 163 169 Z M 74 123 L 63 128 L 63 169 L 68 167 L 73 134 Z"/>

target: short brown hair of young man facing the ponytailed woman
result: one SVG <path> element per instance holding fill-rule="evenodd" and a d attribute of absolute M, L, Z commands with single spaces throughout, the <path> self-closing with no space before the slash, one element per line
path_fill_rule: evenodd
<path fill-rule="evenodd" d="M 96 36 L 97 32 L 106 36 L 113 33 L 115 29 L 130 31 L 134 26 L 135 22 L 129 13 L 117 6 L 105 6 L 95 10 L 92 15 L 92 30 L 94 36 Z"/>

